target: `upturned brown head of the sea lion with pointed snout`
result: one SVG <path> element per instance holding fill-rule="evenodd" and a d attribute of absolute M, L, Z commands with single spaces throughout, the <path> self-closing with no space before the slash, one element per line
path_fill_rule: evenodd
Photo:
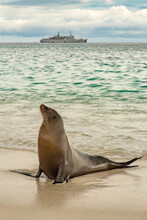
<path fill-rule="evenodd" d="M 43 117 L 43 125 L 49 131 L 64 131 L 62 117 L 52 108 L 48 108 L 44 104 L 40 105 L 40 111 Z"/>

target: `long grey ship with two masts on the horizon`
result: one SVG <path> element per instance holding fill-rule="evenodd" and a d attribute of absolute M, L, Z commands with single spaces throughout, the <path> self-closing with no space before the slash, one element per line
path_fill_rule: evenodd
<path fill-rule="evenodd" d="M 69 36 L 60 36 L 58 32 L 57 35 L 48 38 L 42 38 L 40 43 L 86 43 L 87 39 L 76 39 L 74 35 L 71 34 Z"/>

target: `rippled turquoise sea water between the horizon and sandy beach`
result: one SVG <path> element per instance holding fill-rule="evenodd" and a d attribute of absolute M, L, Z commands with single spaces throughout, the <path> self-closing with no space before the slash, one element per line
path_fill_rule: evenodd
<path fill-rule="evenodd" d="M 72 147 L 147 153 L 147 44 L 0 44 L 0 147 L 37 149 L 39 105 Z"/>

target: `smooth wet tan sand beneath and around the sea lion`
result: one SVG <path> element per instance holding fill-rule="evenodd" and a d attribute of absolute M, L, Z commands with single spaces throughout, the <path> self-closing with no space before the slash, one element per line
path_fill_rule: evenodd
<path fill-rule="evenodd" d="M 0 161 L 0 220 L 147 219 L 146 157 L 134 163 L 137 168 L 89 174 L 61 185 L 45 176 L 35 180 L 10 172 L 35 173 L 37 153 L 0 148 Z"/>

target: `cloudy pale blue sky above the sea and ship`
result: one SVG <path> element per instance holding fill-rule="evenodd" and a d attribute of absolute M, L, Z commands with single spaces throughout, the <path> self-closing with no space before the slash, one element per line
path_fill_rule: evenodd
<path fill-rule="evenodd" d="M 146 0 L 0 0 L 0 42 L 56 35 L 88 42 L 147 42 Z"/>

